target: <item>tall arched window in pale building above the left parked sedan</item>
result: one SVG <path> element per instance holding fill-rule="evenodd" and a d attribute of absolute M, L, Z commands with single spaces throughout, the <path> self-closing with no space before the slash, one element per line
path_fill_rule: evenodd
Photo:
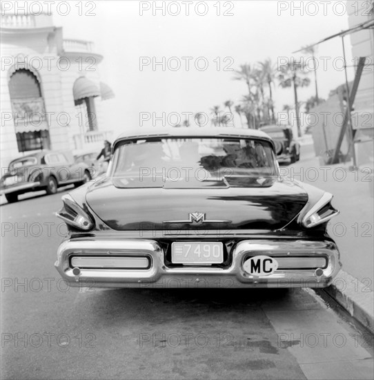
<path fill-rule="evenodd" d="M 9 81 L 9 93 L 18 150 L 49 149 L 48 123 L 37 77 L 26 68 L 14 71 Z"/>

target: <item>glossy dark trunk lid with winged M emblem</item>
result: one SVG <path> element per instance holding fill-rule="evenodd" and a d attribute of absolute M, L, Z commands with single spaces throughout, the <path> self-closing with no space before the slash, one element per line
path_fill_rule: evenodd
<path fill-rule="evenodd" d="M 107 179 L 94 184 L 86 200 L 116 230 L 275 230 L 293 220 L 308 200 L 306 191 L 294 182 L 251 181 L 230 178 L 204 182 L 198 188 L 186 182 L 134 188 Z"/>

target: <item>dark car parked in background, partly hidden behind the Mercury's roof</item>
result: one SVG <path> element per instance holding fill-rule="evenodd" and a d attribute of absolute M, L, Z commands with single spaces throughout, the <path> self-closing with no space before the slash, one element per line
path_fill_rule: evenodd
<path fill-rule="evenodd" d="M 263 126 L 261 131 L 264 131 L 273 139 L 277 160 L 290 160 L 291 164 L 299 161 L 300 144 L 293 139 L 291 127 L 268 125 Z"/>

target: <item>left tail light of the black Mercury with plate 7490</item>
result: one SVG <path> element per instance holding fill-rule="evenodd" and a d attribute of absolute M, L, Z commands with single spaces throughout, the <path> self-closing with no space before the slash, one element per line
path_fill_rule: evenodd
<path fill-rule="evenodd" d="M 84 211 L 69 194 L 61 197 L 63 207 L 56 213 L 56 216 L 62 219 L 66 224 L 77 229 L 88 231 L 92 229 L 94 222 L 92 218 Z"/>

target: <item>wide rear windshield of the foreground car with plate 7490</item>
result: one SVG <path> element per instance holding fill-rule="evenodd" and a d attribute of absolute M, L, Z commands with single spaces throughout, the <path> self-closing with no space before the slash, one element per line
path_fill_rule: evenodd
<path fill-rule="evenodd" d="M 112 162 L 112 177 L 123 179 L 125 185 L 183 187 L 189 182 L 199 187 L 203 182 L 222 182 L 225 186 L 232 180 L 238 183 L 237 178 L 277 175 L 270 143 L 242 138 L 131 140 L 117 146 Z M 245 186 L 246 181 L 240 183 Z"/>

